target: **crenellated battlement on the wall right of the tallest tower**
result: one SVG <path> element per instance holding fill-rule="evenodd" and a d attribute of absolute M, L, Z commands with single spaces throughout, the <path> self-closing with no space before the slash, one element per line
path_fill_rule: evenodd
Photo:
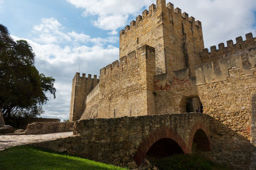
<path fill-rule="evenodd" d="M 253 38 L 252 32 L 246 34 L 246 39 L 243 41 L 243 37 L 239 36 L 236 38 L 236 43 L 234 41 L 228 40 L 227 46 L 224 43 L 220 43 L 218 45 L 218 49 L 216 46 L 210 47 L 210 52 L 208 48 L 205 48 L 202 51 L 202 56 L 200 57 L 203 62 L 209 62 L 211 60 L 220 59 L 221 56 L 227 55 L 230 52 L 241 51 L 245 48 L 251 47 L 252 45 L 256 45 L 256 37 Z"/>

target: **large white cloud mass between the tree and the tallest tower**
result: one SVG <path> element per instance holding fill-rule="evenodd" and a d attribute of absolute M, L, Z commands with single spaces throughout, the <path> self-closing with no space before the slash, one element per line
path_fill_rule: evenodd
<path fill-rule="evenodd" d="M 13 39 L 22 39 L 12 36 Z M 41 117 L 68 119 L 72 78 L 78 71 L 99 74 L 101 67 L 118 59 L 119 49 L 111 44 L 117 37 L 91 38 L 83 32 L 67 32 L 54 18 L 43 18 L 26 39 L 36 54 L 36 68 L 56 78 L 56 99 L 49 96 Z M 109 44 L 109 45 L 106 45 Z"/>

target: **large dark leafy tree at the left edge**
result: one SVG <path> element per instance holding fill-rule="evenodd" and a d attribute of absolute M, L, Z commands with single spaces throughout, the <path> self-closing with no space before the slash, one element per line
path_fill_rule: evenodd
<path fill-rule="evenodd" d="M 35 67 L 35 53 L 27 41 L 13 41 L 8 29 L 0 24 L 0 108 L 4 117 L 35 117 L 54 98 L 55 79 L 40 74 Z"/>

